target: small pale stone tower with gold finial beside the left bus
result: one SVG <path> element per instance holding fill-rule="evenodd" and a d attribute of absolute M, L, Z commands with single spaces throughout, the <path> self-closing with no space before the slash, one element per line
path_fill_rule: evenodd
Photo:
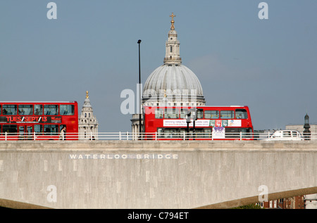
<path fill-rule="evenodd" d="M 79 139 L 98 139 L 98 121 L 94 116 L 92 105 L 86 91 L 86 98 L 82 106 L 82 113 L 78 118 Z"/>

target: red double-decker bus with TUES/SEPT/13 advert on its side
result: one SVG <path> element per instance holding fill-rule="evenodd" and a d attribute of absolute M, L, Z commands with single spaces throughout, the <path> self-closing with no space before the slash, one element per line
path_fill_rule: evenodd
<path fill-rule="evenodd" d="M 0 140 L 78 139 L 78 108 L 69 102 L 0 102 Z M 62 138 L 63 139 L 63 138 Z"/>

